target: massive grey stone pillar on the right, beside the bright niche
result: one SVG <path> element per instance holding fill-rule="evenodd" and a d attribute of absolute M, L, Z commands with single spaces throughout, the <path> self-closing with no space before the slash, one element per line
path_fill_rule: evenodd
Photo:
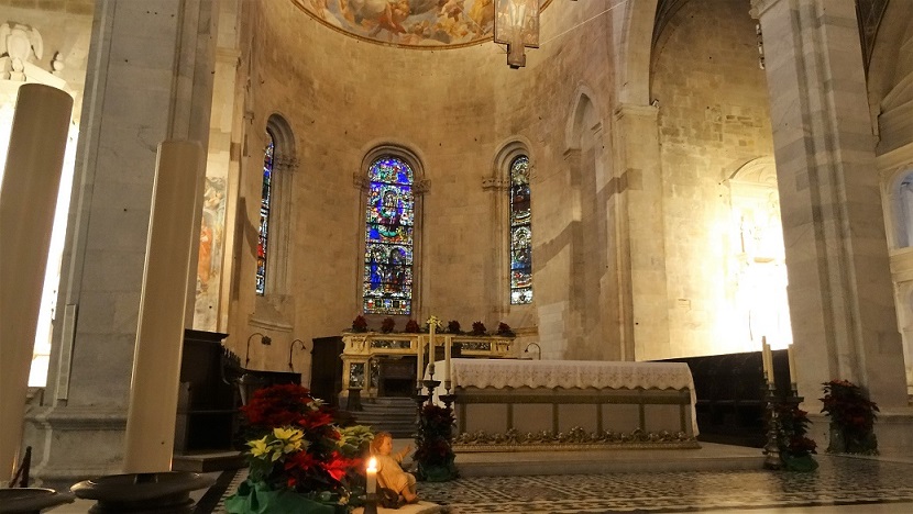
<path fill-rule="evenodd" d="M 763 32 L 799 393 L 815 402 L 822 382 L 840 378 L 882 407 L 905 405 L 854 1 L 751 3 Z"/>

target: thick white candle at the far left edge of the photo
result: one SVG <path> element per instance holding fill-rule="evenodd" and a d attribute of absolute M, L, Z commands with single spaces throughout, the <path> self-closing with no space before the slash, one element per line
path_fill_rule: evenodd
<path fill-rule="evenodd" d="M 72 111 L 73 98 L 59 89 L 41 83 L 19 88 L 0 188 L 0 488 L 19 460 Z"/>

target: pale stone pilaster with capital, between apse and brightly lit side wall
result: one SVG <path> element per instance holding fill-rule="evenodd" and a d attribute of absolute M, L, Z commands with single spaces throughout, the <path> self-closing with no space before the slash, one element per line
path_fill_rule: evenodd
<path fill-rule="evenodd" d="M 651 105 L 634 104 L 622 104 L 615 111 L 614 159 L 623 199 L 618 244 L 627 256 L 623 273 L 628 277 L 620 282 L 629 305 L 622 327 L 622 360 L 650 359 L 671 351 L 658 112 Z"/>

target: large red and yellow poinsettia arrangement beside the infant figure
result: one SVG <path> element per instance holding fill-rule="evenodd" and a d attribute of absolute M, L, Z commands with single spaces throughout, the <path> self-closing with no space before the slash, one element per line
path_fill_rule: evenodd
<path fill-rule="evenodd" d="M 348 513 L 362 502 L 367 427 L 340 428 L 330 409 L 297 384 L 258 390 L 241 413 L 252 435 L 250 473 L 226 499 L 228 513 Z"/>

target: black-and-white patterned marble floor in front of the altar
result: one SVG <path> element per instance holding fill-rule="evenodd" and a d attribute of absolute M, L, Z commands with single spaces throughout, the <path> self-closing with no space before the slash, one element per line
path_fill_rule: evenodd
<path fill-rule="evenodd" d="M 811 473 L 757 470 L 464 478 L 420 482 L 419 495 L 451 514 L 913 512 L 913 462 L 827 455 L 817 456 L 817 460 L 821 468 Z M 228 493 L 243 476 L 234 477 Z M 211 512 L 224 512 L 221 502 Z"/>

